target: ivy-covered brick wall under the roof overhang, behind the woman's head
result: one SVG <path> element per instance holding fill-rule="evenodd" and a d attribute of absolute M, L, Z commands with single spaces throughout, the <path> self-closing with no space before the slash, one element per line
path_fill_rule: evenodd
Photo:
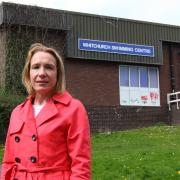
<path fill-rule="evenodd" d="M 9 26 L 5 50 L 5 80 L 1 87 L 14 95 L 26 94 L 21 82 L 22 69 L 31 44 L 40 42 L 64 53 L 66 32 L 28 26 Z M 1 88 L 1 89 L 2 89 Z"/>

